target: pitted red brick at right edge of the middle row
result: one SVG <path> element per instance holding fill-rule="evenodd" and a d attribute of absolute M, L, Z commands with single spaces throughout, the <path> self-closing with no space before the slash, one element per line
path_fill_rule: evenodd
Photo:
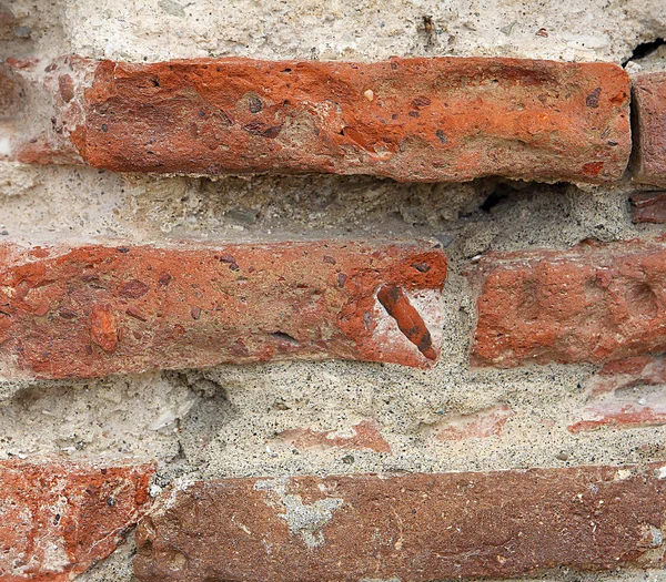
<path fill-rule="evenodd" d="M 474 365 L 598 364 L 666 348 L 660 241 L 490 253 L 468 275 Z"/>

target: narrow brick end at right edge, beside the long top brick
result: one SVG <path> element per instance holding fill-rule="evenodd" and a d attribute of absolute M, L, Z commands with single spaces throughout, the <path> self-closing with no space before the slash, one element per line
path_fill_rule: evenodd
<path fill-rule="evenodd" d="M 635 180 L 666 186 L 666 72 L 632 80 Z"/>

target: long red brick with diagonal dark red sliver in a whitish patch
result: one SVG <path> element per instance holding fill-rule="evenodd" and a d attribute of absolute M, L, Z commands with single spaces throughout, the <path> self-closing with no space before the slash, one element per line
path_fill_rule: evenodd
<path fill-rule="evenodd" d="M 0 246 L 0 374 L 95 377 L 290 358 L 427 367 L 441 245 Z M 383 299 L 389 293 L 396 302 Z"/>

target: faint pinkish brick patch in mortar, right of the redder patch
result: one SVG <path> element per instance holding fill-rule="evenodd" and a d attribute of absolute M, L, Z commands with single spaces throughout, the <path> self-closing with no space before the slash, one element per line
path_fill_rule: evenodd
<path fill-rule="evenodd" d="M 467 440 L 498 437 L 514 416 L 506 405 L 485 408 L 471 415 L 451 415 L 428 428 L 437 440 Z"/>

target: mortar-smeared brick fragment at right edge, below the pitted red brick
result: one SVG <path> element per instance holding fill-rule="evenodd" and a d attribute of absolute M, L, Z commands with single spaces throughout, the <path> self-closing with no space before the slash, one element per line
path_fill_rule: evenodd
<path fill-rule="evenodd" d="M 606 364 L 587 384 L 587 401 L 568 429 L 666 425 L 666 360 L 637 356 Z"/>

